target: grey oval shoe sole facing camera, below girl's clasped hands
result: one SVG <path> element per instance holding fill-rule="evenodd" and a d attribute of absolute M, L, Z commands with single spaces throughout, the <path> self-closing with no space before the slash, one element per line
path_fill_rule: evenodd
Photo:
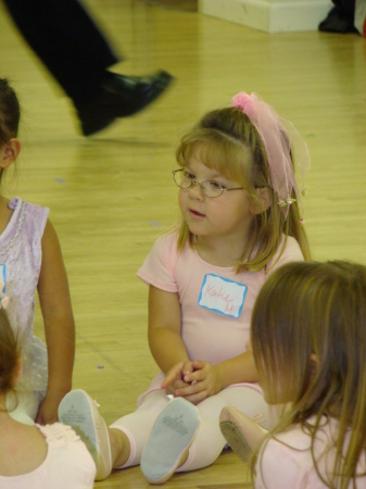
<path fill-rule="evenodd" d="M 181 398 L 169 401 L 151 430 L 141 456 L 141 471 L 150 484 L 165 482 L 180 465 L 200 426 L 199 410 Z"/>

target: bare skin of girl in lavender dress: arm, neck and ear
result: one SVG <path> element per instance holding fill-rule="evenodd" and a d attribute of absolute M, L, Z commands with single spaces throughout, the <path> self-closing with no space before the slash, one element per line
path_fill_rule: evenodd
<path fill-rule="evenodd" d="M 21 143 L 16 138 L 3 145 L 0 150 L 0 168 L 7 168 L 14 163 L 20 151 Z M 7 227 L 11 216 L 9 200 L 1 197 L 0 231 Z M 75 323 L 60 242 L 50 221 L 46 224 L 41 248 L 42 263 L 37 291 L 43 316 L 49 379 L 36 422 L 51 424 L 58 421 L 60 401 L 72 388 Z"/>

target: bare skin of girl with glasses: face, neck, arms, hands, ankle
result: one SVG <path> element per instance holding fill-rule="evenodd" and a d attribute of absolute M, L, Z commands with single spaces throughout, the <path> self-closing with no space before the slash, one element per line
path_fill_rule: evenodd
<path fill-rule="evenodd" d="M 194 154 L 185 168 L 197 181 L 213 180 L 226 188 L 241 187 L 215 170 L 209 168 Z M 263 196 L 262 196 L 263 195 Z M 268 196 L 263 197 L 263 212 L 269 205 Z M 189 229 L 195 235 L 195 249 L 207 263 L 232 267 L 241 255 L 253 218 L 244 190 L 224 192 L 218 198 L 209 198 L 200 186 L 179 190 L 180 212 Z M 202 359 L 191 361 L 181 334 L 181 310 L 177 293 L 165 292 L 156 287 L 149 289 L 149 346 L 159 367 L 165 373 L 162 388 L 167 393 L 182 397 L 199 404 L 225 387 L 245 381 L 256 381 L 257 374 L 252 353 L 213 365 Z M 125 464 L 129 457 L 127 437 L 117 429 L 110 429 L 113 467 Z M 182 464 L 187 452 L 181 457 Z"/>

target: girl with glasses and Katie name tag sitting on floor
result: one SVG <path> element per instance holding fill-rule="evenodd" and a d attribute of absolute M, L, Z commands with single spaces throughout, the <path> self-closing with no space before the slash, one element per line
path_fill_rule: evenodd
<path fill-rule="evenodd" d="M 83 391 L 59 410 L 64 423 L 85 421 L 79 427 L 100 454 L 98 478 L 141 463 L 147 479 L 161 484 L 175 471 L 212 464 L 225 447 L 225 405 L 272 426 L 245 346 L 267 277 L 310 258 L 293 154 L 308 165 L 293 126 L 244 92 L 181 139 L 173 172 L 181 224 L 155 242 L 138 272 L 150 288 L 149 344 L 161 373 L 110 430 Z"/>

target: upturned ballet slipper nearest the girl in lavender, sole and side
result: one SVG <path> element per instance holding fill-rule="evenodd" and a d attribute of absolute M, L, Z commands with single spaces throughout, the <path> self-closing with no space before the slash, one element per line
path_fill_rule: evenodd
<path fill-rule="evenodd" d="M 61 423 L 83 431 L 96 451 L 96 480 L 105 479 L 112 471 L 111 443 L 106 424 L 99 414 L 96 402 L 84 390 L 72 390 L 62 399 L 59 405 L 59 419 Z M 102 427 L 99 436 L 96 428 L 97 423 Z M 104 450 L 101 450 L 102 446 L 108 447 L 108 459 L 103 456 Z"/>

